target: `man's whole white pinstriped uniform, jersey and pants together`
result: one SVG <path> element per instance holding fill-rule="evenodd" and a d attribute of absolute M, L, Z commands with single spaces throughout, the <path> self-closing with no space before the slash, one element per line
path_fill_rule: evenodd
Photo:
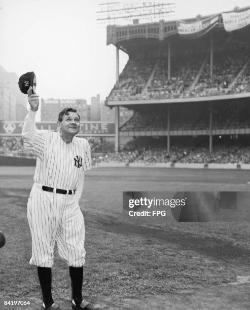
<path fill-rule="evenodd" d="M 37 156 L 34 184 L 27 204 L 32 237 L 30 264 L 52 267 L 55 241 L 59 255 L 69 266 L 85 262 L 85 226 L 79 207 L 84 173 L 91 169 L 90 145 L 86 139 L 73 137 L 65 143 L 59 132 L 35 129 L 35 112 L 25 117 L 22 136 L 24 146 Z M 42 186 L 54 192 L 42 190 Z M 76 195 L 55 193 L 55 189 L 74 190 Z"/>

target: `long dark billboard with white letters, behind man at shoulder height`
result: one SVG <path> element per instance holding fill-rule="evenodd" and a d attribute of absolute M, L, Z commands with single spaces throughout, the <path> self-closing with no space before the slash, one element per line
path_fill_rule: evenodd
<path fill-rule="evenodd" d="M 47 129 L 57 131 L 57 124 L 53 122 L 38 122 L 35 124 L 37 129 Z M 115 123 L 111 122 L 84 122 L 80 125 L 79 135 L 115 135 Z M 0 135 L 20 136 L 23 122 L 0 122 Z"/>

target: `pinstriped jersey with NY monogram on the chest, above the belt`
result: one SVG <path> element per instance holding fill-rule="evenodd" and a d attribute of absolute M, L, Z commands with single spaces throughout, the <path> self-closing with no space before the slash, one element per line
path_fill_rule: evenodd
<path fill-rule="evenodd" d="M 90 145 L 86 139 L 73 137 L 65 143 L 60 133 L 36 130 L 24 147 L 37 156 L 34 181 L 50 187 L 75 189 L 85 171 L 91 169 Z"/>

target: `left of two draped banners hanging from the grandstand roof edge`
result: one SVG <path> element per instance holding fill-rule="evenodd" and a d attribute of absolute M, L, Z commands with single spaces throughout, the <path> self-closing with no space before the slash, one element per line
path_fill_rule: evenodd
<path fill-rule="evenodd" d="M 219 15 L 195 21 L 177 21 L 178 33 L 186 38 L 195 38 L 207 33 L 219 23 Z"/>

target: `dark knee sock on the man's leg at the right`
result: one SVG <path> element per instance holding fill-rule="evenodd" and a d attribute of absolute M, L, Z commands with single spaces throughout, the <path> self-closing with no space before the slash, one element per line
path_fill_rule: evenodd
<path fill-rule="evenodd" d="M 72 298 L 74 299 L 76 305 L 80 305 L 83 301 L 83 267 L 69 266 L 69 275 L 71 279 Z"/>

